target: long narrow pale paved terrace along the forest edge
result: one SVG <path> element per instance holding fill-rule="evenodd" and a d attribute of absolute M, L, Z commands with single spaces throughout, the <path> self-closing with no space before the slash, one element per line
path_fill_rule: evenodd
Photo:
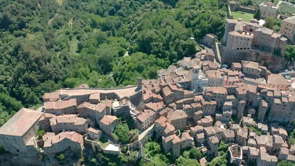
<path fill-rule="evenodd" d="M 60 89 L 61 96 L 78 96 L 78 95 L 90 95 L 92 93 L 116 93 L 119 98 L 129 98 L 136 94 L 137 86 L 129 86 L 120 89 Z"/>

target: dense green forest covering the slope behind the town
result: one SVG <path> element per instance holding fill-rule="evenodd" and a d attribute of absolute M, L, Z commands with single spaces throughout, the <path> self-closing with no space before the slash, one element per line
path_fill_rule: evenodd
<path fill-rule="evenodd" d="M 222 37 L 217 0 L 0 1 L 0 125 L 42 96 L 86 83 L 111 88 L 150 79 Z"/>

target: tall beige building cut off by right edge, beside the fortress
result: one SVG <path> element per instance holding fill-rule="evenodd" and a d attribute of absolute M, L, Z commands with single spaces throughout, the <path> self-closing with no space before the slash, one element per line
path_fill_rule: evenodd
<path fill-rule="evenodd" d="M 283 19 L 280 33 L 285 35 L 292 44 L 295 44 L 295 16 Z"/>

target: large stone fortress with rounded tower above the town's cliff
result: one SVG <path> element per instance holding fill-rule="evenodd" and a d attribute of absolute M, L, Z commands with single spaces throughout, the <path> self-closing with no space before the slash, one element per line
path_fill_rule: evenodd
<path fill-rule="evenodd" d="M 250 54 L 251 50 L 285 55 L 287 39 L 280 33 L 257 23 L 226 19 L 222 44 L 226 52 Z"/>

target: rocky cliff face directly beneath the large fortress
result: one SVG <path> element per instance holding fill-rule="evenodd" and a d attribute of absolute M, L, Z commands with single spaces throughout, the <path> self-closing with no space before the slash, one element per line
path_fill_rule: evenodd
<path fill-rule="evenodd" d="M 219 45 L 222 64 L 241 62 L 241 60 L 258 62 L 261 66 L 267 66 L 269 71 L 277 72 L 287 67 L 287 61 L 274 53 L 260 50 L 235 50 L 227 51 L 225 46 Z"/>

